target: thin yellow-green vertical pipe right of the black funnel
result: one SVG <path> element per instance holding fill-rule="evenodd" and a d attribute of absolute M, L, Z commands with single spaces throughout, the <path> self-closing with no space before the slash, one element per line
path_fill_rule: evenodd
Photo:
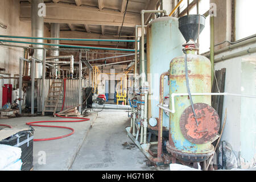
<path fill-rule="evenodd" d="M 212 84 L 214 78 L 214 16 L 210 16 L 210 63 L 212 64 Z"/>

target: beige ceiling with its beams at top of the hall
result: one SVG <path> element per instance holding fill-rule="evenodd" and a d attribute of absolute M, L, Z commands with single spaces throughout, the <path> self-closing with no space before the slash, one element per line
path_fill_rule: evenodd
<path fill-rule="evenodd" d="M 31 0 L 30 0 L 31 1 Z M 30 20 L 30 3 L 22 1 L 20 19 Z M 119 35 L 127 0 L 45 0 L 46 23 L 60 23 L 61 31 L 81 31 L 101 35 Z M 133 36 L 141 23 L 140 12 L 153 0 L 129 0 L 122 36 Z"/>

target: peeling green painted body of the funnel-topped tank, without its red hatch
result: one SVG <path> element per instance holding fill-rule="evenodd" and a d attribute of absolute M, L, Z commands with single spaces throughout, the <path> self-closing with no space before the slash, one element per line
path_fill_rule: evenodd
<path fill-rule="evenodd" d="M 188 52 L 188 77 L 191 93 L 211 92 L 211 67 L 207 57 Z M 170 96 L 172 93 L 187 93 L 185 80 L 184 56 L 176 57 L 170 63 Z M 211 105 L 211 96 L 192 96 L 193 103 L 205 103 Z M 171 103 L 170 97 L 170 103 Z M 170 113 L 170 133 L 174 147 L 185 153 L 201 154 L 213 150 L 211 142 L 205 144 L 194 144 L 184 138 L 180 130 L 180 117 L 183 111 L 191 105 L 188 96 L 175 97 L 174 114 Z M 170 109 L 171 105 L 170 105 Z"/>

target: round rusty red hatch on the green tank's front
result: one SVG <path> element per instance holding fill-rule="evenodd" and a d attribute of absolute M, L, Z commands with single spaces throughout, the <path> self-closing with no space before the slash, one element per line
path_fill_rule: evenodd
<path fill-rule="evenodd" d="M 196 125 L 192 106 L 189 106 L 180 117 L 181 133 L 191 143 L 204 144 L 211 142 L 220 129 L 218 113 L 212 106 L 204 103 L 194 104 L 194 107 L 199 125 Z"/>

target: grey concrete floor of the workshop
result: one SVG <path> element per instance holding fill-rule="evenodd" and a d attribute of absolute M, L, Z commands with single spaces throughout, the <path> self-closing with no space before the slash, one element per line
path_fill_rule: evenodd
<path fill-rule="evenodd" d="M 127 111 L 104 110 L 98 115 L 94 113 L 86 118 L 90 118 L 90 121 L 45 123 L 45 125 L 72 127 L 75 133 L 62 139 L 34 142 L 34 171 L 169 170 L 168 166 L 146 166 L 146 157 L 126 135 L 125 127 L 130 125 Z M 26 122 L 65 120 L 72 119 L 50 116 L 21 117 L 0 119 L 0 123 L 20 128 L 27 127 Z M 35 139 L 58 137 L 71 132 L 67 129 L 49 127 L 34 127 L 34 129 Z M 44 159 L 46 159 L 45 164 Z"/>

